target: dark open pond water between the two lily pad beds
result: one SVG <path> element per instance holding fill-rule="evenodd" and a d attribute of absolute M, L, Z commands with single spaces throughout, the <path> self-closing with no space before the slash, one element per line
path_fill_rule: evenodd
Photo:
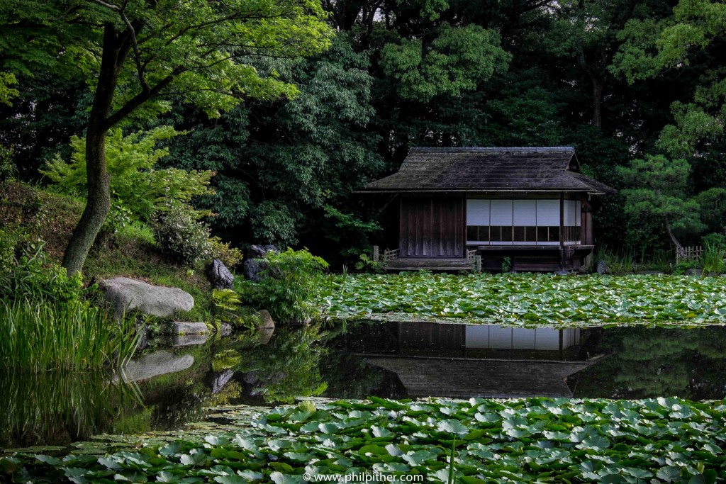
<path fill-rule="evenodd" d="M 173 438 L 296 397 L 726 397 L 726 327 L 359 321 L 191 343 L 152 343 L 123 374 L 0 375 L 0 448 Z"/>

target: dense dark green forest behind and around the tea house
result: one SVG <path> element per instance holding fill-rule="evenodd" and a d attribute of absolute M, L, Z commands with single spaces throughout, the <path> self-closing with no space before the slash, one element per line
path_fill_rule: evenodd
<path fill-rule="evenodd" d="M 724 4 L 322 7 L 334 30 L 330 49 L 245 57 L 299 94 L 245 99 L 221 112 L 168 96 L 118 126 L 168 149 L 155 160 L 160 167 L 215 173 L 214 193 L 195 205 L 216 214 L 208 221 L 222 239 L 356 261 L 383 231 L 380 203 L 352 192 L 396 171 L 410 147 L 576 147 L 584 171 L 620 191 L 596 219 L 597 244 L 616 252 L 672 253 L 668 231 L 684 244 L 723 232 Z M 0 59 L 9 44 L 0 41 Z M 94 83 L 52 63 L 15 69 L 8 59 L 0 65 L 2 155 L 17 178 L 46 184 L 41 171 L 70 160 L 72 136 L 86 135 Z M 179 134 L 158 136 L 162 126 Z"/>

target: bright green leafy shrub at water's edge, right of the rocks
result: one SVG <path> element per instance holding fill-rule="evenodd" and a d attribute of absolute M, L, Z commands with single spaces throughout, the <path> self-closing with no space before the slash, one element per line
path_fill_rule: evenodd
<path fill-rule="evenodd" d="M 276 321 L 304 321 L 320 316 L 314 303 L 323 282 L 327 262 L 307 250 L 269 252 L 260 282 L 236 283 L 242 301 L 266 309 Z"/>

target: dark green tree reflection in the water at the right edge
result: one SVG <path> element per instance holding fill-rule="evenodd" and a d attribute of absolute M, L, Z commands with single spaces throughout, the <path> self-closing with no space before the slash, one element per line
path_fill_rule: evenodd
<path fill-rule="evenodd" d="M 613 328 L 599 353 L 613 353 L 579 375 L 576 396 L 723 398 L 726 328 Z"/>

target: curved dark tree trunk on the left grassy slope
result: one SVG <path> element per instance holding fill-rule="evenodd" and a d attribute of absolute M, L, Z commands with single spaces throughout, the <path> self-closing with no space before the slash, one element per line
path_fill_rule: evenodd
<path fill-rule="evenodd" d="M 63 255 L 63 267 L 71 276 L 81 271 L 86 256 L 111 207 L 110 177 L 106 170 L 107 117 L 118 83 L 118 71 L 126 57 L 126 42 L 119 41 L 113 24 L 104 26 L 103 53 L 98 84 L 86 130 L 86 177 L 88 201 Z"/>

